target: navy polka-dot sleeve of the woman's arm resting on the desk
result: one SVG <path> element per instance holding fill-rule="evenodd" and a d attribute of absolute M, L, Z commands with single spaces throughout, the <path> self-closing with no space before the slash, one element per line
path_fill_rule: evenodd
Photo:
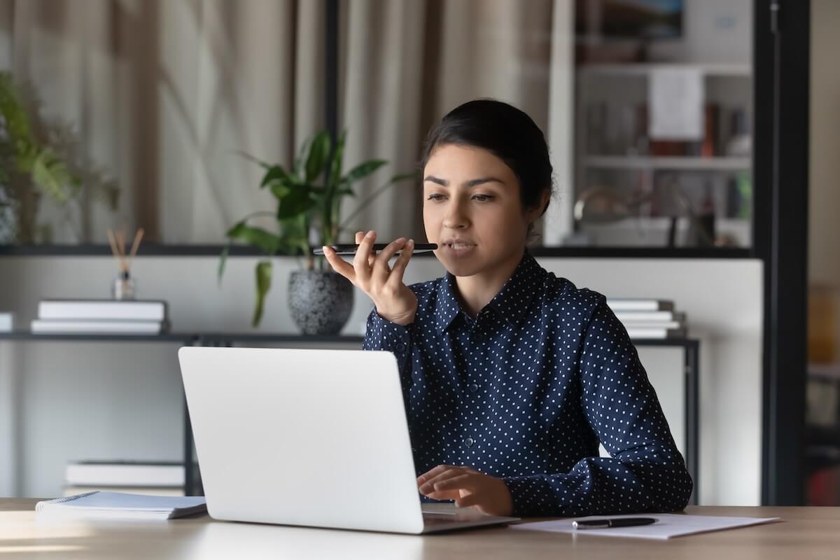
<path fill-rule="evenodd" d="M 580 406 L 611 457 L 583 458 L 569 473 L 504 479 L 513 498 L 513 515 L 615 515 L 685 508 L 693 488 L 685 461 L 636 348 L 603 296 L 582 343 Z"/>

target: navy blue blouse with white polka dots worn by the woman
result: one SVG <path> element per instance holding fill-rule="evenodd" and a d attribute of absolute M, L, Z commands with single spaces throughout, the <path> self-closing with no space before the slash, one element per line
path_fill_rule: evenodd
<path fill-rule="evenodd" d="M 410 288 L 414 322 L 374 309 L 364 348 L 396 355 L 417 475 L 453 464 L 499 477 L 514 516 L 685 507 L 685 462 L 604 296 L 528 252 L 475 319 L 452 275 Z"/>

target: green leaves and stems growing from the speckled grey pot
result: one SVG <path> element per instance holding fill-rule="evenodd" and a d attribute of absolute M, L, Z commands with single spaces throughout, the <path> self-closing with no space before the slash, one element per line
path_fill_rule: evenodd
<path fill-rule="evenodd" d="M 381 195 L 397 181 L 413 178 L 414 173 L 394 175 L 384 185 L 377 188 L 354 212 L 341 221 L 341 201 L 344 196 L 355 196 L 353 186 L 356 181 L 386 165 L 386 160 L 367 160 L 355 165 L 344 175 L 341 168 L 344 160 L 344 139 L 342 133 L 333 149 L 332 139 L 326 131 L 319 132 L 303 144 L 295 158 L 291 170 L 282 165 L 268 164 L 249 154 L 243 154 L 265 169 L 260 189 L 268 189 L 277 201 L 274 212 L 253 212 L 228 229 L 228 246 L 223 249 L 219 260 L 218 278 L 222 280 L 224 265 L 228 257 L 230 243 L 234 240 L 252 245 L 268 257 L 276 254 L 301 254 L 306 270 L 324 270 L 325 260 L 312 254 L 310 249 L 311 233 L 317 233 L 318 246 L 333 245 L 344 232 L 347 223 L 358 214 L 376 196 Z M 250 225 L 257 217 L 276 217 L 278 231 L 270 232 L 265 228 Z M 256 265 L 256 303 L 251 324 L 260 324 L 265 296 L 271 287 L 272 265 L 270 259 L 261 259 Z"/>

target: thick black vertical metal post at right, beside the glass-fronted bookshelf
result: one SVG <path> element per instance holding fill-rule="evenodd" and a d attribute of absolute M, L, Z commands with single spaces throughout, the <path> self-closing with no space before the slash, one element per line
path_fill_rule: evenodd
<path fill-rule="evenodd" d="M 753 246 L 764 261 L 763 505 L 804 500 L 810 0 L 755 0 Z M 769 165 L 759 165 L 759 162 Z"/>

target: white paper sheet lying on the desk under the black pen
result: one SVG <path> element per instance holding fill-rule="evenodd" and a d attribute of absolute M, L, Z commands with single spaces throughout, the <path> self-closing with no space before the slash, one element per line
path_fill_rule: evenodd
<path fill-rule="evenodd" d="M 580 519 L 616 519 L 618 517 L 654 517 L 656 523 L 637 527 L 612 527 L 610 529 L 575 529 L 572 521 Z M 559 521 L 535 521 L 533 523 L 518 523 L 512 529 L 525 531 L 549 531 L 555 533 L 575 533 L 576 535 L 593 536 L 630 536 L 643 539 L 669 539 L 673 536 L 693 535 L 708 531 L 722 531 L 762 523 L 781 521 L 780 517 L 718 517 L 691 516 L 688 514 L 641 514 L 634 516 L 591 516 L 575 517 Z"/>

